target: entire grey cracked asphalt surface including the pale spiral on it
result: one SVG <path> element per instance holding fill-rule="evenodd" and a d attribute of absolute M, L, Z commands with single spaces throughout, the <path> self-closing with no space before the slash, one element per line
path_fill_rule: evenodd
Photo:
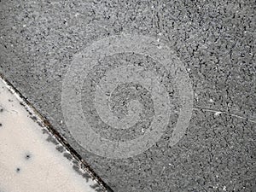
<path fill-rule="evenodd" d="M 113 191 L 256 191 L 255 7 L 1 1 L 0 73 Z"/>

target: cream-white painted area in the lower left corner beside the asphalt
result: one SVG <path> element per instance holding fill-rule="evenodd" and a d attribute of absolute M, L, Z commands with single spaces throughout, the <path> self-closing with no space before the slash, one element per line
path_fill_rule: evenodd
<path fill-rule="evenodd" d="M 55 144 L 47 141 L 49 132 L 28 111 L 32 113 L 20 96 L 0 79 L 0 191 L 103 191 L 88 172 L 74 171 L 73 161 L 63 156 L 68 151 L 56 140 Z M 63 152 L 56 147 L 62 147 Z M 89 177 L 83 177 L 84 174 Z"/>

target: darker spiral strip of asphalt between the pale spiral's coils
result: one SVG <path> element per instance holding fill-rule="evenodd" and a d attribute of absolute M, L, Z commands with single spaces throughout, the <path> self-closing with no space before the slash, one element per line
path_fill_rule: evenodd
<path fill-rule="evenodd" d="M 147 70 L 154 70 L 155 73 L 160 73 L 160 75 L 166 73 L 165 68 L 150 57 L 132 53 L 123 53 L 107 56 L 99 61 L 98 65 L 92 68 L 88 74 L 88 78 L 84 80 L 83 84 L 82 106 L 86 119 L 96 133 L 100 134 L 102 137 L 115 141 L 124 142 L 138 136 L 143 136 L 143 131 L 148 130 L 154 117 L 154 102 L 152 96 L 141 84 L 134 84 L 132 82 L 119 84 L 112 93 L 109 93 L 108 106 L 111 108 L 113 115 L 119 119 L 123 119 L 128 113 L 127 105 L 129 102 L 137 100 L 142 104 L 143 109 L 142 113 L 139 113 L 140 117 L 138 122 L 134 119 L 136 124 L 131 125 L 126 129 L 124 127 L 122 127 L 122 129 L 114 129 L 112 126 L 109 126 L 102 121 L 96 111 L 93 101 L 95 100 L 94 95 L 96 86 L 99 86 L 100 80 L 106 75 L 108 70 L 131 64 L 133 66 L 145 67 Z M 169 87 L 171 88 L 170 85 Z M 172 90 L 170 90 L 170 92 L 172 92 Z M 178 101 L 176 103 L 178 103 Z M 131 123 L 133 124 L 133 122 Z"/>

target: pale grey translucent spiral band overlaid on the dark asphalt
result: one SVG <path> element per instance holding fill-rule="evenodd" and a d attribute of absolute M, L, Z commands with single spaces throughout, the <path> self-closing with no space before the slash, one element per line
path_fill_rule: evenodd
<path fill-rule="evenodd" d="M 157 46 L 158 44 L 160 44 L 160 47 Z M 165 76 L 162 77 L 159 73 L 155 73 L 154 69 L 147 68 L 147 65 L 143 67 L 142 62 L 138 64 L 132 62 L 127 64 L 126 62 L 125 65 L 123 64 L 125 60 L 115 62 L 115 65 L 118 64 L 120 67 L 118 65 L 108 67 L 108 64 L 104 63 L 101 70 L 93 72 L 95 67 L 101 65 L 101 63 L 98 64 L 97 62 L 102 62 L 106 56 L 111 57 L 126 53 L 148 56 L 155 61 L 159 61 L 162 67 L 166 68 L 166 76 L 172 78 L 175 82 L 174 84 L 177 85 L 180 108 L 177 125 L 172 131 L 173 137 L 169 143 L 170 146 L 175 145 L 183 137 L 192 113 L 193 90 L 189 76 L 183 67 L 183 63 L 178 60 L 175 53 L 166 44 L 155 41 L 153 38 L 136 34 L 122 34 L 96 41 L 74 56 L 73 65 L 69 68 L 62 84 L 61 105 L 66 124 L 73 132 L 73 137 L 76 137 L 77 142 L 86 150 L 90 150 L 91 153 L 107 156 L 108 158 L 120 159 L 143 153 L 143 151 L 160 140 L 170 123 L 171 113 L 175 116 L 174 110 L 170 109 L 172 105 L 170 104 L 169 94 L 163 84 Z M 104 75 L 105 73 L 106 75 Z M 93 79 L 93 76 L 103 77 Z M 81 100 L 81 97 L 83 97 L 82 92 L 87 90 L 81 90 L 84 79 L 85 82 L 88 79 L 88 84 L 94 84 L 93 86 L 95 86 L 92 87 L 93 91 L 89 90 L 87 94 L 84 94 L 86 98 L 92 96 L 91 101 L 86 101 L 89 105 L 94 104 L 95 108 L 92 109 L 85 108 L 84 101 L 83 99 Z M 93 80 L 90 82 L 91 79 Z M 154 119 L 151 122 L 149 121 L 150 129 L 147 130 L 145 126 L 142 126 L 140 128 L 143 131 L 138 137 L 128 137 L 128 140 L 125 141 L 123 141 L 124 139 L 114 141 L 113 139 L 104 138 L 103 136 L 109 137 L 108 133 L 112 134 L 114 132 L 106 130 L 111 128 L 126 129 L 127 127 L 132 127 L 140 119 L 142 105 L 137 102 L 137 97 L 136 100 L 129 102 L 131 104 L 129 108 L 131 113 L 125 115 L 125 119 L 114 115 L 113 110 L 111 112 L 111 109 L 109 109 L 109 96 L 115 87 L 128 83 L 142 84 L 143 87 L 150 90 L 154 100 Z M 127 96 L 125 99 L 127 99 Z M 124 101 L 121 102 L 124 103 Z M 90 113 L 90 115 L 92 114 L 92 119 L 88 118 L 86 114 L 84 115 L 85 110 L 88 110 L 87 113 Z M 125 110 L 123 111 L 127 113 Z M 103 136 L 97 134 L 93 130 L 94 126 L 90 124 L 96 124 L 98 127 L 103 125 L 105 128 L 102 133 Z M 136 130 L 131 128 L 131 132 Z M 125 134 L 126 132 L 123 131 L 118 137 Z"/>

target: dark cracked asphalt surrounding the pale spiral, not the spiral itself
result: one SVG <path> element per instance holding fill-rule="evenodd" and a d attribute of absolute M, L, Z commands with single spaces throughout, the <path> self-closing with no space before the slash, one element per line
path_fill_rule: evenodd
<path fill-rule="evenodd" d="M 0 73 L 20 90 L 113 191 L 255 191 L 255 2 L 1 1 Z M 109 35 L 160 38 L 193 81 L 183 139 L 111 160 L 74 140 L 61 113 L 73 55 Z M 216 112 L 222 113 L 216 113 Z"/>

